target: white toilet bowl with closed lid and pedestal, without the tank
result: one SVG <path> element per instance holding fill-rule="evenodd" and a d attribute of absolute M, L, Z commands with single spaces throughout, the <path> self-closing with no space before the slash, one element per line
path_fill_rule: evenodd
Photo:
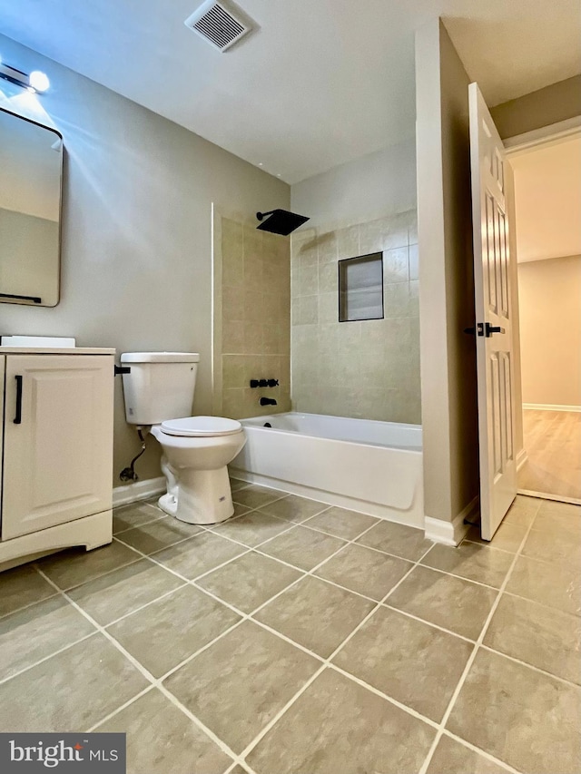
<path fill-rule="evenodd" d="M 227 465 L 246 443 L 240 422 L 222 416 L 186 416 L 153 425 L 162 445 L 166 514 L 188 524 L 217 524 L 234 513 Z"/>

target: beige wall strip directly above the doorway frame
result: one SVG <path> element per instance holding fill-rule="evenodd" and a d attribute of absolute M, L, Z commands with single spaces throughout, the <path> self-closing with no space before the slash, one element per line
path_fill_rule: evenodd
<path fill-rule="evenodd" d="M 581 75 L 501 103 L 490 113 L 503 139 L 575 118 L 581 115 Z"/>

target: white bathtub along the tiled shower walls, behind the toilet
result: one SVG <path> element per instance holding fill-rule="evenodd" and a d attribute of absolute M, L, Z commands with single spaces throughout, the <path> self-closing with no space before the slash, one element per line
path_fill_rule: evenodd
<path fill-rule="evenodd" d="M 421 426 L 294 412 L 241 424 L 235 478 L 423 529 Z"/>

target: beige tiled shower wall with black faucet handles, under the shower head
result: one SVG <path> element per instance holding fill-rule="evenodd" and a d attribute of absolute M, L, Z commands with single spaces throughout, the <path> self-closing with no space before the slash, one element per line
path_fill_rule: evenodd
<path fill-rule="evenodd" d="M 224 217 L 214 220 L 214 240 L 214 412 L 241 419 L 288 411 L 290 240 Z M 253 389 L 251 378 L 279 379 L 280 386 Z M 277 405 L 261 407 L 261 396 Z"/>

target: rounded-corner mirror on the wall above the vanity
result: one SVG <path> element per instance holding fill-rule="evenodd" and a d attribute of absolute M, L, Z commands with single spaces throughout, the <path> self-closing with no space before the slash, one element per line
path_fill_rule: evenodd
<path fill-rule="evenodd" d="M 63 136 L 0 108 L 0 302 L 59 300 Z"/>

